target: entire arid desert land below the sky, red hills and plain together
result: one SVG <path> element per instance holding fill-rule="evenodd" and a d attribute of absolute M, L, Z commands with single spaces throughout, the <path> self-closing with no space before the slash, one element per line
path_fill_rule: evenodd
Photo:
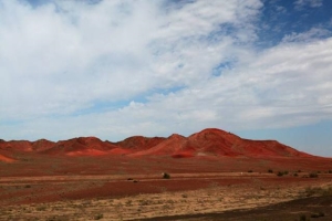
<path fill-rule="evenodd" d="M 332 159 L 220 129 L 0 140 L 0 220 L 331 220 Z"/>

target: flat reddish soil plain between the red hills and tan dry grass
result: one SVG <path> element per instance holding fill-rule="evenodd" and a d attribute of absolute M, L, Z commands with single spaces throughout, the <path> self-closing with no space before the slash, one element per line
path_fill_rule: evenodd
<path fill-rule="evenodd" d="M 129 156 L 17 155 L 0 162 L 0 207 L 85 198 L 123 197 L 163 191 L 204 189 L 210 186 L 310 185 L 311 171 L 331 181 L 332 160 L 324 158 L 174 158 Z M 269 169 L 273 173 L 268 173 Z M 278 171 L 289 171 L 278 177 Z M 252 171 L 252 172 L 251 172 Z M 172 179 L 162 179 L 168 172 Z M 293 175 L 297 173 L 298 177 Z M 137 182 L 134 182 L 136 180 Z M 28 186 L 28 188 L 27 188 Z"/>

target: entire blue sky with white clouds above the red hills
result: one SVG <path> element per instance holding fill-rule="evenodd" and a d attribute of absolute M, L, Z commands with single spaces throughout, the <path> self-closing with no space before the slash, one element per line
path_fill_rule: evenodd
<path fill-rule="evenodd" d="M 332 157 L 330 0 L 0 0 L 0 138 L 220 128 Z"/>

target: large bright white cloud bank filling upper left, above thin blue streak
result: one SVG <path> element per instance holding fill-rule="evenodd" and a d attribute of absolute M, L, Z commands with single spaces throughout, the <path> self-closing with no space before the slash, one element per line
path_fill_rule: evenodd
<path fill-rule="evenodd" d="M 242 28 L 261 6 L 197 1 L 167 11 L 144 0 L 54 2 L 1 3 L 2 118 L 70 114 L 95 101 L 204 80 L 235 56 L 231 45 L 247 41 L 241 32 L 255 38 Z M 231 32 L 236 40 L 221 33 L 221 24 L 238 29 Z"/>

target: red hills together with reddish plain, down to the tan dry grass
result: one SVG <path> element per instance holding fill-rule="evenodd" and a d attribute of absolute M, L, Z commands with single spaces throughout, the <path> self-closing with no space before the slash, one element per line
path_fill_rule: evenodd
<path fill-rule="evenodd" d="M 278 177 L 278 171 L 289 173 Z M 308 178 L 313 171 L 319 179 Z M 56 143 L 0 140 L 0 208 L 216 186 L 245 190 L 305 187 L 331 183 L 330 171 L 331 158 L 274 140 L 242 139 L 220 129 L 189 137 L 135 136 L 118 143 L 95 137 Z M 162 179 L 163 172 L 172 179 Z"/>

